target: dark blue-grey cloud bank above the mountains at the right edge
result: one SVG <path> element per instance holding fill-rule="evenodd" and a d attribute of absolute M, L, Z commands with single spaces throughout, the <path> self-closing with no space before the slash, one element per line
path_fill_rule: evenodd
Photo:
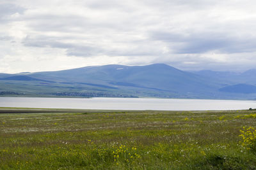
<path fill-rule="evenodd" d="M 225 53 L 255 52 L 256 43 L 256 38 L 237 38 L 228 32 L 175 34 L 159 31 L 151 32 L 150 38 L 172 44 L 170 46 L 173 46 L 175 53 L 205 53 L 212 50 Z"/>

